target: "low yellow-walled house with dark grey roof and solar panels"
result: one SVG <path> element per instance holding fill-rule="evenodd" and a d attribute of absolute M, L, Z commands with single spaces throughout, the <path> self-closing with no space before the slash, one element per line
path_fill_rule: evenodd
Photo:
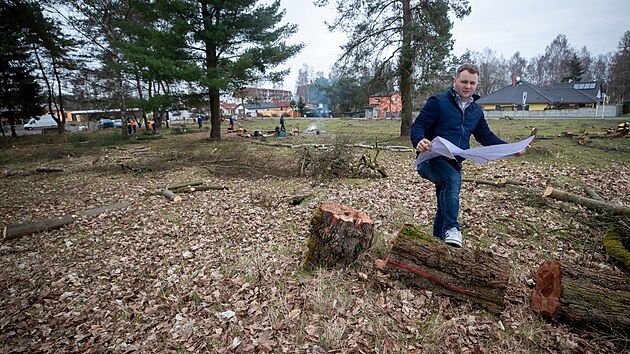
<path fill-rule="evenodd" d="M 486 111 L 544 111 L 595 108 L 601 103 L 599 82 L 563 82 L 541 87 L 524 80 L 501 88 L 477 103 Z"/>

